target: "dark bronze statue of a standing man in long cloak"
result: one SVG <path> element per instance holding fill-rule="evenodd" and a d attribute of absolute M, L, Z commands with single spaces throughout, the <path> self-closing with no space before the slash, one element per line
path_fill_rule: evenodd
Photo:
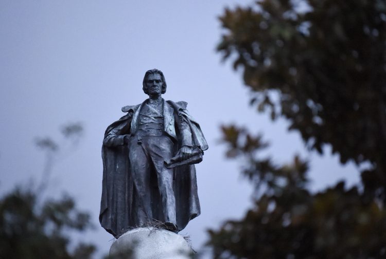
<path fill-rule="evenodd" d="M 186 102 L 165 101 L 162 71 L 148 70 L 142 104 L 106 130 L 99 221 L 115 237 L 149 220 L 178 232 L 200 214 L 194 163 L 208 148 Z"/>

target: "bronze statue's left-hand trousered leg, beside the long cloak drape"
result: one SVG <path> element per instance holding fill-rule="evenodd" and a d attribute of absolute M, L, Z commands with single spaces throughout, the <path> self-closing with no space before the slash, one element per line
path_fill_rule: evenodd
<path fill-rule="evenodd" d="M 151 161 L 142 146 L 132 141 L 129 148 L 131 174 L 133 175 L 136 193 L 139 196 L 139 208 L 133 208 L 137 212 L 138 223 L 145 223 L 147 219 L 152 219 L 151 192 L 150 192 L 150 173 Z"/>

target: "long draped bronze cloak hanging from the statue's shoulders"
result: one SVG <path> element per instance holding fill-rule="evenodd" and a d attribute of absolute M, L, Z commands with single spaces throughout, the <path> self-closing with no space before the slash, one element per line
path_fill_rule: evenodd
<path fill-rule="evenodd" d="M 192 143 L 202 151 L 208 149 L 205 137 L 200 125 L 188 114 L 186 102 L 165 101 L 165 105 L 173 110 L 174 120 L 186 120 L 189 122 Z M 127 115 L 112 123 L 106 130 L 106 139 L 112 131 L 121 131 L 127 128 L 130 133 L 133 114 L 138 112 L 141 105 L 125 106 L 123 112 Z M 181 147 L 179 129 L 176 127 L 176 141 L 174 152 Z M 102 197 L 100 202 L 99 221 L 101 226 L 118 237 L 127 230 L 138 227 L 141 223 L 137 218 L 136 210 L 139 209 L 139 197 L 134 187 L 133 175 L 130 172 L 129 146 L 102 145 L 103 180 Z M 156 177 L 152 177 L 156 181 Z M 153 217 L 162 221 L 163 204 L 157 188 L 157 183 L 150 184 L 149 190 L 152 197 Z M 186 227 L 189 220 L 200 215 L 200 203 L 197 194 L 196 169 L 193 164 L 174 168 L 173 191 L 176 198 L 176 223 L 178 230 Z M 159 215 L 159 216 L 158 216 Z"/>

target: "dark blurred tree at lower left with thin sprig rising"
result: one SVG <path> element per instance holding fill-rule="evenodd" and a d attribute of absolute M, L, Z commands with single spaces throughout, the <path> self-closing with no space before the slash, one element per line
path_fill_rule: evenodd
<path fill-rule="evenodd" d="M 76 143 L 81 132 L 80 124 L 64 127 L 65 143 Z M 74 245 L 70 243 L 71 233 L 92 227 L 90 215 L 79 211 L 68 195 L 56 200 L 43 198 L 59 145 L 50 138 L 39 139 L 37 145 L 47 152 L 38 188 L 15 188 L 0 198 L 0 258 L 91 258 L 94 245 L 79 243 L 69 248 Z"/>

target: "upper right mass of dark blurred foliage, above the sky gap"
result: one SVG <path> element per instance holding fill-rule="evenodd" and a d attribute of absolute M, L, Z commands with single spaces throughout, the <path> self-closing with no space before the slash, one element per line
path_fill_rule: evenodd
<path fill-rule="evenodd" d="M 365 181 L 384 186 L 386 2 L 258 1 L 220 20 L 218 50 L 258 93 L 251 102 L 286 118 L 311 149 L 330 144 L 343 163 L 370 162 L 377 177 Z"/>

